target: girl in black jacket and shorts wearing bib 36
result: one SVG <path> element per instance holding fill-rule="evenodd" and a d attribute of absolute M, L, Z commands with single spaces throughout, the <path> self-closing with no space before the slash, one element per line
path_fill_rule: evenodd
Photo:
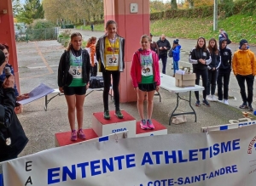
<path fill-rule="evenodd" d="M 65 94 L 68 107 L 68 120 L 71 127 L 71 140 L 85 139 L 83 132 L 84 99 L 90 81 L 90 55 L 81 48 L 82 35 L 75 32 L 67 50 L 62 54 L 58 70 L 58 86 Z M 75 113 L 79 125 L 75 130 Z"/>

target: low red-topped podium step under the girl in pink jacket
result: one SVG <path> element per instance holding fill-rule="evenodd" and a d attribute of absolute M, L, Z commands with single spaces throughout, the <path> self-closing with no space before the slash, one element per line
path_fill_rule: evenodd
<path fill-rule="evenodd" d="M 156 135 L 166 135 L 167 128 L 160 124 L 160 122 L 152 119 L 154 124 L 154 130 L 143 130 L 140 126 L 141 121 L 137 121 L 136 123 L 136 137 L 144 137 L 144 136 L 156 136 Z"/>

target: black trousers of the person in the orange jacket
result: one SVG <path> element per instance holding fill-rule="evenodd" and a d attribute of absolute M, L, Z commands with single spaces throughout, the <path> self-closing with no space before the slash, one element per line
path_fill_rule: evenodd
<path fill-rule="evenodd" d="M 236 75 L 236 80 L 240 87 L 241 99 L 243 103 L 252 105 L 254 76 L 253 75 L 247 75 L 247 76 Z M 245 90 L 245 81 L 247 82 L 247 93 Z"/>

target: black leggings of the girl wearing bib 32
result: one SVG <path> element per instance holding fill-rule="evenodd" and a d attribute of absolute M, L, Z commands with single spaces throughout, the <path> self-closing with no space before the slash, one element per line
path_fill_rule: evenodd
<path fill-rule="evenodd" d="M 109 87 L 111 86 L 111 75 L 112 75 L 112 88 L 113 88 L 113 100 L 115 105 L 115 110 L 119 110 L 119 80 L 120 72 L 118 70 L 102 70 L 102 76 L 104 80 L 104 90 L 103 90 L 103 103 L 104 110 L 108 110 L 108 93 Z"/>

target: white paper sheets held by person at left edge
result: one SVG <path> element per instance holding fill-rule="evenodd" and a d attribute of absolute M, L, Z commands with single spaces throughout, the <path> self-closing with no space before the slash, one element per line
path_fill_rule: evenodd
<path fill-rule="evenodd" d="M 18 101 L 19 104 L 28 104 L 36 99 L 40 99 L 44 97 L 45 95 L 53 92 L 54 89 L 51 87 L 48 87 L 44 85 L 44 83 L 41 83 L 38 87 L 35 87 L 32 89 L 32 91 L 29 93 L 29 99 L 23 99 L 21 101 Z"/>

